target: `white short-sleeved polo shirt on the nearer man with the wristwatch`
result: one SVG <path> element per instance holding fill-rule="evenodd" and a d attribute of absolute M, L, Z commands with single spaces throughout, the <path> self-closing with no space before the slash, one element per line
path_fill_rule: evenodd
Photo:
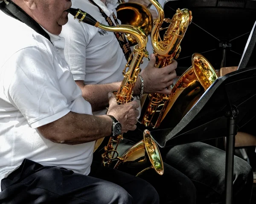
<path fill-rule="evenodd" d="M 70 111 L 92 114 L 64 59 L 64 39 L 50 34 L 51 43 L 2 11 L 0 28 L 0 180 L 24 158 L 88 174 L 95 142 L 56 144 L 37 130 Z"/>

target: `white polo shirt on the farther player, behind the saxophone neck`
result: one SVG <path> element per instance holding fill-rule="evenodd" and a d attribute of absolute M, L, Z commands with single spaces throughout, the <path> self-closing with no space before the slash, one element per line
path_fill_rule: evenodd
<path fill-rule="evenodd" d="M 100 0 L 95 0 L 95 3 L 114 22 L 112 13 L 118 5 L 117 0 L 107 0 L 107 6 Z M 80 8 L 99 23 L 108 25 L 99 8 L 88 0 L 73 0 L 72 7 Z M 126 60 L 116 36 L 112 32 L 79 23 L 71 14 L 68 17 L 69 21 L 63 27 L 61 36 L 66 40 L 64 54 L 74 79 L 83 80 L 85 84 L 121 81 Z"/>

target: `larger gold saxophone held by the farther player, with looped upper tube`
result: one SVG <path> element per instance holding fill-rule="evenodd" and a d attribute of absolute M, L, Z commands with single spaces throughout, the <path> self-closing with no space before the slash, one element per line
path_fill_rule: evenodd
<path fill-rule="evenodd" d="M 151 44 L 156 55 L 156 67 L 161 68 L 179 56 L 180 43 L 192 21 L 192 12 L 186 8 L 178 8 L 172 19 L 166 19 L 160 4 L 151 2 L 158 12 L 151 31 Z M 164 29 L 161 28 L 163 22 L 169 23 L 169 26 L 161 40 L 159 31 Z M 207 88 L 218 79 L 215 69 L 203 55 L 194 53 L 191 61 L 192 66 L 172 86 L 170 95 L 148 94 L 140 118 L 143 125 L 161 129 L 170 128 L 170 124 L 175 127 Z"/>

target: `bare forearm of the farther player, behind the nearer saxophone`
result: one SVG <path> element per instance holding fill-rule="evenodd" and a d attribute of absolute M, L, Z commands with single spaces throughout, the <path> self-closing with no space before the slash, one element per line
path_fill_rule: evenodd
<path fill-rule="evenodd" d="M 108 93 L 117 91 L 120 85 L 121 82 L 114 82 L 110 84 L 79 85 L 79 87 L 84 99 L 91 104 L 92 110 L 99 111 L 108 107 Z"/>

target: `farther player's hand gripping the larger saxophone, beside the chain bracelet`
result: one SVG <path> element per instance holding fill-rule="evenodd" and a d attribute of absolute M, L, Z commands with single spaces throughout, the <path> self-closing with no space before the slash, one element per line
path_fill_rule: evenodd
<path fill-rule="evenodd" d="M 162 68 L 155 68 L 155 62 L 155 55 L 151 54 L 148 65 L 141 71 L 140 75 L 144 80 L 144 93 L 171 94 L 172 89 L 170 86 L 173 83 L 173 79 L 177 76 L 175 71 L 177 62 L 174 61 L 172 64 Z"/>

